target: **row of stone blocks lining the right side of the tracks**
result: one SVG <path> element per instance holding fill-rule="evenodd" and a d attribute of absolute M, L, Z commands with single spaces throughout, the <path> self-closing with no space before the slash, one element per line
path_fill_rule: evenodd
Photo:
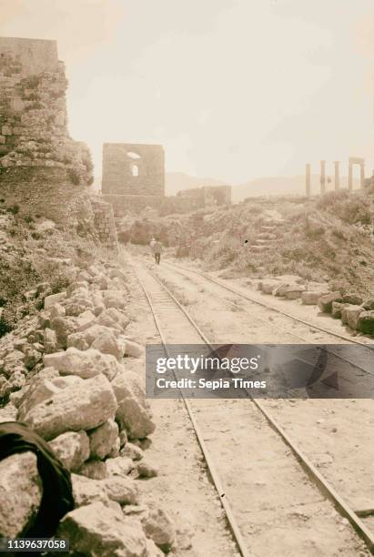
<path fill-rule="evenodd" d="M 258 281 L 258 289 L 286 299 L 299 299 L 304 305 L 316 305 L 322 313 L 341 319 L 343 325 L 374 336 L 374 299 L 357 293 L 331 292 L 326 283 L 311 282 L 296 275 L 284 275 Z"/>

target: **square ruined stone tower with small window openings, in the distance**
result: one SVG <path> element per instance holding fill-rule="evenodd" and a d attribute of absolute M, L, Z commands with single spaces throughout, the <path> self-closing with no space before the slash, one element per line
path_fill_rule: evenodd
<path fill-rule="evenodd" d="M 164 197 L 164 148 L 161 145 L 105 143 L 102 193 Z"/>

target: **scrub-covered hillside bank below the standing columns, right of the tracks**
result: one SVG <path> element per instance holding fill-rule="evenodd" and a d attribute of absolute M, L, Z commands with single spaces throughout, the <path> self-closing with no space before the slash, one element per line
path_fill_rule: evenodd
<path fill-rule="evenodd" d="M 373 294 L 373 202 L 369 187 L 309 200 L 251 198 L 188 215 L 130 219 L 122 239 L 147 244 L 157 234 L 177 257 L 200 259 L 207 269 L 222 269 L 228 277 L 298 274 L 329 280 L 333 288 Z M 251 246 L 261 226 L 271 221 L 269 209 L 283 220 L 275 222 L 277 239 L 257 251 Z"/>

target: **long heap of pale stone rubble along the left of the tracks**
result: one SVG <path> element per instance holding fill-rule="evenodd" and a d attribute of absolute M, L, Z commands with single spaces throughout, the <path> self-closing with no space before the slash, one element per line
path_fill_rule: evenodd
<path fill-rule="evenodd" d="M 140 501 L 137 482 L 157 475 L 141 448 L 155 424 L 143 381 L 126 369 L 144 351 L 126 335 L 126 282 L 112 264 L 79 271 L 0 352 L 0 421 L 24 422 L 72 473 L 76 508 L 56 535 L 74 554 L 157 557 L 175 542 L 167 513 Z M 19 536 L 41 498 L 35 455 L 0 461 L 0 497 L 14 501 L 0 508 L 0 535 Z"/>

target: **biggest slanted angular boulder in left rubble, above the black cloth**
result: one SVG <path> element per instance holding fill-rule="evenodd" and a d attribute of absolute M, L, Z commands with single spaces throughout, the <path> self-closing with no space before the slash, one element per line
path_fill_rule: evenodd
<path fill-rule="evenodd" d="M 116 409 L 112 387 L 100 374 L 37 404 L 25 414 L 25 423 L 48 441 L 66 431 L 92 430 L 113 418 Z"/>

